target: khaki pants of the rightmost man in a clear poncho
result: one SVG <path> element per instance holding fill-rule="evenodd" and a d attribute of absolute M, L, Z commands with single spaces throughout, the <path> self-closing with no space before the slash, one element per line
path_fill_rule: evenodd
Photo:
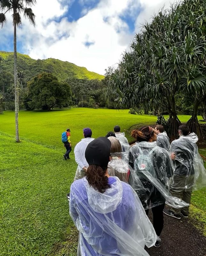
<path fill-rule="evenodd" d="M 173 184 L 170 186 L 170 193 L 172 196 L 176 196 L 186 203 L 190 204 L 192 196 L 192 184 L 194 182 L 194 175 L 184 176 L 184 175 L 175 175 L 173 177 Z M 186 188 L 186 185 L 189 185 L 189 188 Z M 175 214 L 180 214 L 180 212 L 189 214 L 189 206 L 182 208 L 171 208 L 171 211 Z"/>

